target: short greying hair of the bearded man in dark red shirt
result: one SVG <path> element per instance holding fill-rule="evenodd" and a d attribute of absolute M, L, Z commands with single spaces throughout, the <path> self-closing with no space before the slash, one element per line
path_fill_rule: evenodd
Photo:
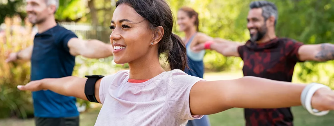
<path fill-rule="evenodd" d="M 253 1 L 249 4 L 249 8 L 262 8 L 262 16 L 265 18 L 265 21 L 270 17 L 275 17 L 275 25 L 278 20 L 277 7 L 274 3 L 268 1 Z"/>

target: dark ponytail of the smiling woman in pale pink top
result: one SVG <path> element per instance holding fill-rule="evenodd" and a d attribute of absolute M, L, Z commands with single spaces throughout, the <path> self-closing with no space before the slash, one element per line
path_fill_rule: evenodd
<path fill-rule="evenodd" d="M 167 58 L 169 68 L 171 70 L 180 69 L 183 71 L 185 68 L 188 68 L 186 47 L 179 36 L 172 33 L 170 38 L 173 46 L 169 50 Z"/>

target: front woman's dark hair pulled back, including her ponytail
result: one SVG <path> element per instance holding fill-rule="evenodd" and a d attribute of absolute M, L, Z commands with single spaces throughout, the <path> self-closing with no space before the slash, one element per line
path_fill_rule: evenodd
<path fill-rule="evenodd" d="M 140 16 L 147 20 L 153 30 L 158 26 L 164 29 L 159 44 L 158 53 L 167 53 L 168 62 L 171 70 L 188 68 L 186 47 L 181 38 L 172 33 L 175 23 L 172 11 L 165 0 L 119 0 L 116 7 L 120 4 L 131 6 Z"/>

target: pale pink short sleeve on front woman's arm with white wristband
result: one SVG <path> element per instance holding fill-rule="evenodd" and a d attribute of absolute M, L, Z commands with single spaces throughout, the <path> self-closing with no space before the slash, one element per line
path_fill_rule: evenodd
<path fill-rule="evenodd" d="M 181 72 L 180 72 L 181 73 Z M 168 85 L 169 110 L 181 120 L 200 119 L 203 115 L 191 115 L 189 97 L 192 86 L 202 78 L 186 74 L 174 74 Z"/>

